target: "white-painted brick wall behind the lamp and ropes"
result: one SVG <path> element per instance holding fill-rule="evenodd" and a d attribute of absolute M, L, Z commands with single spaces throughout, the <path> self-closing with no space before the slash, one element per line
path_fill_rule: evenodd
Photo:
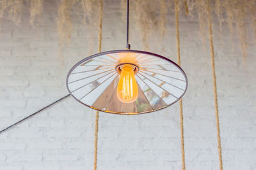
<path fill-rule="evenodd" d="M 105 1 L 104 9 L 102 51 L 122 49 L 125 26 L 118 6 Z M 73 16 L 72 40 L 63 50 L 64 65 L 58 53 L 56 3 L 45 3 L 44 15 L 36 22 L 37 27 L 29 25 L 28 13 L 22 18 L 20 26 L 8 20 L 2 25 L 1 129 L 65 96 L 68 70 L 88 55 L 87 33 L 81 25 L 81 16 Z M 150 42 L 150 51 L 176 61 L 174 25 L 170 15 L 166 37 L 158 46 L 155 41 Z M 138 37 L 131 23 L 132 48 L 141 50 Z M 255 170 L 255 45 L 249 47 L 246 66 L 243 66 L 239 48 L 232 52 L 230 37 L 223 36 L 223 40 L 224 45 L 214 36 L 223 167 Z M 188 18 L 180 20 L 180 43 L 182 67 L 189 80 L 184 96 L 186 167 L 188 170 L 218 169 L 209 46 L 205 46 L 204 51 L 198 24 Z M 93 52 L 97 53 L 96 43 Z M 95 111 L 69 97 L 0 134 L 0 169 L 93 169 L 94 122 Z M 100 113 L 98 169 L 181 169 L 180 157 L 178 104 L 138 116 Z"/>

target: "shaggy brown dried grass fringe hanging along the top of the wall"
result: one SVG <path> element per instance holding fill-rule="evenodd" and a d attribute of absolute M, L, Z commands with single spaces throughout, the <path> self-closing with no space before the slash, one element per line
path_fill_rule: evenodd
<path fill-rule="evenodd" d="M 93 39 L 97 35 L 99 26 L 99 2 L 100 0 L 56 0 L 58 6 L 58 32 L 60 46 L 63 47 L 69 43 L 72 32 L 72 5 L 79 6 L 83 12 L 83 22 L 88 28 L 88 41 L 91 43 L 92 50 Z M 126 19 L 126 0 L 121 1 L 121 10 L 123 18 Z M 22 20 L 23 3 L 30 4 L 30 20 L 33 24 L 36 17 L 42 14 L 43 0 L 0 0 L 0 24 L 1 19 L 12 20 L 19 25 Z M 138 27 L 143 46 L 145 50 L 149 48 L 148 39 L 151 36 L 159 37 L 159 41 L 166 34 L 166 18 L 168 10 L 173 10 L 173 1 L 171 0 L 133 0 L 130 1 L 131 20 Z M 198 17 L 200 27 L 200 37 L 205 43 L 207 38 L 207 11 L 205 0 L 180 0 L 179 10 L 183 10 L 186 15 Z M 256 39 L 256 0 L 212 0 L 211 1 L 212 22 L 218 25 L 220 37 L 223 34 L 223 25 L 228 25 L 232 42 L 234 36 L 237 36 L 240 42 L 241 51 L 245 59 L 248 34 L 253 32 Z"/>

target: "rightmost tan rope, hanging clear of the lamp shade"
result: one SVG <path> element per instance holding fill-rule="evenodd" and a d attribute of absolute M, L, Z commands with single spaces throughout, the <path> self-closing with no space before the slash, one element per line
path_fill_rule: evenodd
<path fill-rule="evenodd" d="M 212 39 L 211 7 L 210 7 L 209 0 L 207 0 L 207 11 L 208 11 L 209 41 L 210 41 L 210 46 L 211 46 L 212 83 L 213 83 L 214 103 L 215 103 L 215 117 L 216 117 L 217 138 L 218 138 L 219 162 L 220 162 L 220 170 L 223 170 L 222 155 L 221 155 L 221 139 L 220 139 L 220 119 L 219 119 L 219 110 L 218 110 L 218 96 L 217 96 L 215 62 L 214 62 L 214 48 L 213 48 L 213 39 Z"/>

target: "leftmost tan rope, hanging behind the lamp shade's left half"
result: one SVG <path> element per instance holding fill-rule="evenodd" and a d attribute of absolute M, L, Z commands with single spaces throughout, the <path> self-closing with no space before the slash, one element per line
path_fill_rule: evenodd
<path fill-rule="evenodd" d="M 103 0 L 100 0 L 100 12 L 99 12 L 99 53 L 101 52 L 102 44 L 102 16 L 103 16 Z M 97 153 L 98 153 L 98 131 L 99 131 L 99 111 L 96 111 L 95 115 L 95 134 L 94 134 L 94 170 L 97 170 Z"/>

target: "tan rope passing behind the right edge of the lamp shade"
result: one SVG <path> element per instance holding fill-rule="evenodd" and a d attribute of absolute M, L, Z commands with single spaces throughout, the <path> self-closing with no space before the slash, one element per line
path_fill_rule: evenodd
<path fill-rule="evenodd" d="M 176 39 L 177 39 L 177 58 L 180 66 L 180 32 L 179 32 L 179 9 L 178 0 L 175 0 L 175 21 L 176 21 Z M 184 150 L 184 127 L 183 127 L 183 108 L 182 99 L 179 101 L 180 106 L 180 141 L 181 141 L 181 158 L 182 158 L 182 170 L 185 170 L 185 150 Z"/>

